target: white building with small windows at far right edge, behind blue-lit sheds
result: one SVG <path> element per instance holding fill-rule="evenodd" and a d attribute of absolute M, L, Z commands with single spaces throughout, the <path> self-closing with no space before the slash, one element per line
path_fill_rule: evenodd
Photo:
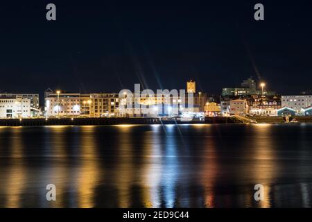
<path fill-rule="evenodd" d="M 302 112 L 305 108 L 312 105 L 311 95 L 281 96 L 281 107 L 287 107 Z"/>

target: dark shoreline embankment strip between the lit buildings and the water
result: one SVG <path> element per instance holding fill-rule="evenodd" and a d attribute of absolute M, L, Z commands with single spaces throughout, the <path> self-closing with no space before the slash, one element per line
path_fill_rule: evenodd
<path fill-rule="evenodd" d="M 294 117 L 297 123 L 312 123 L 312 117 Z M 67 119 L 0 119 L 0 126 L 98 126 L 98 125 L 153 125 L 153 124 L 235 124 L 285 123 L 284 117 L 206 117 L 205 121 L 174 121 L 158 118 L 67 118 Z"/>

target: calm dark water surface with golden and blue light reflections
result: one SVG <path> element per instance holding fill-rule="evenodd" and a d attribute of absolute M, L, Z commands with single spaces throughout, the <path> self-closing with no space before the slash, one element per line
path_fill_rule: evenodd
<path fill-rule="evenodd" d="M 309 124 L 0 127 L 0 207 L 311 204 Z"/>

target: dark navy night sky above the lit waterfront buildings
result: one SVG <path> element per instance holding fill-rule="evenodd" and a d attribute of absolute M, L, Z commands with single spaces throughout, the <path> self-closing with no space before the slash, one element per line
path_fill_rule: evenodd
<path fill-rule="evenodd" d="M 180 89 L 193 78 L 220 94 L 259 80 L 252 60 L 270 89 L 312 89 L 311 1 L 1 2 L 0 28 L 1 92 Z"/>

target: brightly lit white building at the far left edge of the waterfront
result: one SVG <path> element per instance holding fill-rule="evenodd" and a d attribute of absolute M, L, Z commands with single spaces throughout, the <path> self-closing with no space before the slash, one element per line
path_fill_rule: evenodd
<path fill-rule="evenodd" d="M 16 95 L 0 96 L 0 118 L 31 117 L 31 99 Z"/>

